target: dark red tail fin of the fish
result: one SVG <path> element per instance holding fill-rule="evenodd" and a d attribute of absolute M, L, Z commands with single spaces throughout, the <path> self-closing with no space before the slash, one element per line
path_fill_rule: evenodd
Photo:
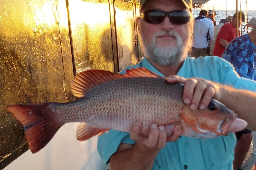
<path fill-rule="evenodd" d="M 6 109 L 23 125 L 28 146 L 33 153 L 44 148 L 63 124 L 54 123 L 55 103 L 18 104 Z"/>

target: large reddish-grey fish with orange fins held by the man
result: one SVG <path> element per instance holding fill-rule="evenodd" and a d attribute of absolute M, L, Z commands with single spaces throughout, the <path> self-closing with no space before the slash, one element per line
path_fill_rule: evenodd
<path fill-rule="evenodd" d="M 72 80 L 71 91 L 78 97 L 75 100 L 15 104 L 6 109 L 23 125 L 33 153 L 44 148 L 69 122 L 81 122 L 77 128 L 80 141 L 110 129 L 130 132 L 135 121 L 142 123 L 141 133 L 145 136 L 153 123 L 166 128 L 181 125 L 182 135 L 188 137 L 228 135 L 237 114 L 215 99 L 204 110 L 191 110 L 183 102 L 183 89 L 184 84 L 168 83 L 145 68 L 127 69 L 126 74 L 87 70 Z M 171 130 L 168 132 L 172 134 Z"/>

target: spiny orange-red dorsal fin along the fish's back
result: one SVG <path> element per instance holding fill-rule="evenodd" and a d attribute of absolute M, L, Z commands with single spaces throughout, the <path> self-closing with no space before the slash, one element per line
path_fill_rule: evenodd
<path fill-rule="evenodd" d="M 114 74 L 110 71 L 105 70 L 87 70 L 76 75 L 72 81 L 71 91 L 74 96 L 83 97 L 84 93 L 89 89 L 116 79 L 125 79 L 132 77 L 153 77 L 162 78 L 163 77 L 153 73 L 145 68 L 132 68 L 131 70 L 126 70 L 126 74 Z"/>

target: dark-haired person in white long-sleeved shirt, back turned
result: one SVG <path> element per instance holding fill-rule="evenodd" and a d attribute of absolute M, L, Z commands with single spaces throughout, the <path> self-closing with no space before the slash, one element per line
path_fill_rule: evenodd
<path fill-rule="evenodd" d="M 207 18 L 207 11 L 201 10 L 199 17 L 195 18 L 193 46 L 191 56 L 198 58 L 208 55 L 209 44 L 213 39 L 213 22 Z"/>

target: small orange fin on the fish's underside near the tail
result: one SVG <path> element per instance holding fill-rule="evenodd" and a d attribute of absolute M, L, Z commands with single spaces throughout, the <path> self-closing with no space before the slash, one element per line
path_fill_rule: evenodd
<path fill-rule="evenodd" d="M 102 135 L 108 130 L 109 129 L 95 128 L 87 123 L 80 123 L 80 125 L 77 127 L 77 140 L 87 140 L 95 135 Z"/>

